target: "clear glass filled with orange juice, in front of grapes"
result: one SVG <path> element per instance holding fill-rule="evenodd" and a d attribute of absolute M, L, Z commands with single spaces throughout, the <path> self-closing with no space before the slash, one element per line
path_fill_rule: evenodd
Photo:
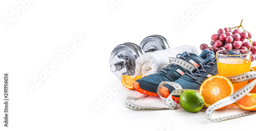
<path fill-rule="evenodd" d="M 218 75 L 236 76 L 250 71 L 251 51 L 232 49 L 216 52 Z M 234 90 L 243 88 L 249 81 L 234 83 Z"/>

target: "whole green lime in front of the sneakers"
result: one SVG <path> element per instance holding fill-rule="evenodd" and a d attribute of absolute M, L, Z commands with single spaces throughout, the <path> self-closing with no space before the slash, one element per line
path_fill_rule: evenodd
<path fill-rule="evenodd" d="M 198 112 L 204 106 L 204 98 L 194 90 L 187 90 L 180 95 L 180 106 L 187 112 Z"/>

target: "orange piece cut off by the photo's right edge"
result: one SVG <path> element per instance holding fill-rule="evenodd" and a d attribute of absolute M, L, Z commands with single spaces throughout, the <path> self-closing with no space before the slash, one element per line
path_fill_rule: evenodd
<path fill-rule="evenodd" d="M 243 98 L 235 102 L 236 105 L 246 111 L 256 111 L 256 94 L 248 93 Z"/>

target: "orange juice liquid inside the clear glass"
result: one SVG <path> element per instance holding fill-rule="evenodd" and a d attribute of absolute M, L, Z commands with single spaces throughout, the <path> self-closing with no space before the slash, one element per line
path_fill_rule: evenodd
<path fill-rule="evenodd" d="M 221 76 L 236 76 L 250 71 L 251 62 L 243 58 L 221 58 L 217 61 L 218 74 Z M 234 90 L 243 88 L 249 81 L 234 83 Z"/>

